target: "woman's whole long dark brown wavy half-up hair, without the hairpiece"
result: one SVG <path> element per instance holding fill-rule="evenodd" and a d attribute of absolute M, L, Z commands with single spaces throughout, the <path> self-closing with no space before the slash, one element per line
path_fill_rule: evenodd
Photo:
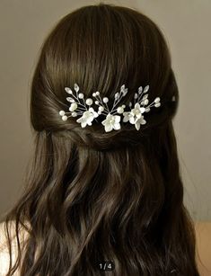
<path fill-rule="evenodd" d="M 64 87 L 75 83 L 86 97 L 109 98 L 125 84 L 125 104 L 150 85 L 149 101 L 159 96 L 162 105 L 139 131 L 129 123 L 109 133 L 99 122 L 82 129 L 58 114 L 68 108 Z M 57 22 L 31 81 L 34 156 L 5 215 L 8 246 L 12 222 L 18 245 L 7 275 L 199 275 L 172 126 L 178 103 L 163 32 L 145 14 L 101 3 Z M 104 261 L 114 269 L 101 272 Z"/>

